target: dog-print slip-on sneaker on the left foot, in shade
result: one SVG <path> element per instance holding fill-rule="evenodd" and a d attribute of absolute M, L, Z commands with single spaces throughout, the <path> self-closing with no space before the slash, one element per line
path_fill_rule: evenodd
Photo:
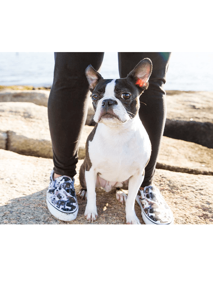
<path fill-rule="evenodd" d="M 77 217 L 78 202 L 75 195 L 74 179 L 62 175 L 53 180 L 54 170 L 50 175 L 50 184 L 46 194 L 47 207 L 50 213 L 63 221 Z"/>

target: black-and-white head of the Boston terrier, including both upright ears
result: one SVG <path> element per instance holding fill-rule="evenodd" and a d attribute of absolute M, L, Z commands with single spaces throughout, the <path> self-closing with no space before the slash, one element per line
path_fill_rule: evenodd
<path fill-rule="evenodd" d="M 139 110 L 139 96 L 148 88 L 152 72 L 150 59 L 143 59 L 122 79 L 103 79 L 89 65 L 85 74 L 92 92 L 94 121 L 106 125 L 120 125 L 134 118 Z"/>

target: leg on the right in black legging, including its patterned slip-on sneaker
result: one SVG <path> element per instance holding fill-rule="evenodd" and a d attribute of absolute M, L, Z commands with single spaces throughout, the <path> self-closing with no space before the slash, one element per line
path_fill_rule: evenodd
<path fill-rule="evenodd" d="M 145 177 L 136 201 L 146 224 L 173 224 L 173 214 L 153 184 L 157 156 L 166 120 L 166 99 L 163 88 L 171 53 L 118 53 L 120 77 L 127 74 L 144 58 L 150 58 L 153 71 L 149 78 L 148 89 L 140 96 L 139 117 L 149 135 L 152 153 L 145 168 Z"/>

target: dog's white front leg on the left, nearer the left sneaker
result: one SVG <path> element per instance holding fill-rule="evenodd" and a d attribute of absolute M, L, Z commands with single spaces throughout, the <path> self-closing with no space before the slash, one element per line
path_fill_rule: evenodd
<path fill-rule="evenodd" d="M 90 168 L 89 171 L 85 171 L 85 181 L 87 184 L 87 205 L 84 215 L 86 216 L 89 222 L 96 220 L 97 207 L 96 207 L 96 193 L 95 193 L 95 184 L 97 179 L 97 173 L 93 168 Z"/>

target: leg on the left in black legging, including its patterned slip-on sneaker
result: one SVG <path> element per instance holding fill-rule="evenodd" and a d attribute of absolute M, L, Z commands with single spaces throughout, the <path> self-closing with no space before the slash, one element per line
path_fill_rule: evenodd
<path fill-rule="evenodd" d="M 74 220 L 78 213 L 73 177 L 88 108 L 89 84 L 85 69 L 91 64 L 98 70 L 103 54 L 55 53 L 54 79 L 48 100 L 54 170 L 46 203 L 50 213 L 64 221 Z"/>

